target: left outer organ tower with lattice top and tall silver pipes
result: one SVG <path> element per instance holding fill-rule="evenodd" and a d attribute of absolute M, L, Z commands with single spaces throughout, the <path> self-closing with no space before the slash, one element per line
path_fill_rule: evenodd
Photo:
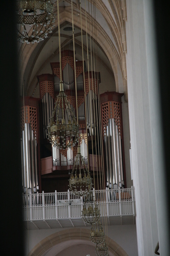
<path fill-rule="evenodd" d="M 23 193 L 36 193 L 41 189 L 40 177 L 40 100 L 25 97 L 21 100 L 21 162 Z"/>

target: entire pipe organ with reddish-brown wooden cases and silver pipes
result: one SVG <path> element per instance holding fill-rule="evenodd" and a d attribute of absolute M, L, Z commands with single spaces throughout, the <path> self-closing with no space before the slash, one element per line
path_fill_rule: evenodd
<path fill-rule="evenodd" d="M 63 90 L 71 113 L 78 117 L 81 155 L 89 169 L 93 186 L 96 189 L 101 189 L 103 184 L 110 188 L 126 187 L 123 94 L 100 94 L 100 72 L 87 71 L 85 61 L 76 61 L 76 94 L 74 52 L 62 51 L 61 64 L 62 72 L 60 62 L 52 62 L 52 74 L 37 76 L 40 98 L 25 97 L 22 100 L 23 192 L 62 192 L 69 188 L 68 180 L 78 154 L 78 143 L 75 146 L 59 148 L 50 143 L 47 131 L 60 92 L 60 80 L 63 81 Z M 67 110 L 60 105 L 59 118 L 62 111 L 66 113 Z M 68 123 L 66 115 L 65 122 Z"/>

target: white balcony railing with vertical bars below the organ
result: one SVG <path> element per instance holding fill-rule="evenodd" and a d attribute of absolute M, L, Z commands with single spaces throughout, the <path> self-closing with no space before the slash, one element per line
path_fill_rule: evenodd
<path fill-rule="evenodd" d="M 135 222 L 134 188 L 94 190 L 101 218 L 107 217 L 108 224 Z M 84 197 L 67 192 L 23 195 L 23 218 L 30 228 L 41 228 L 40 223 L 51 227 L 85 225 L 81 215 Z M 43 222 L 42 222 L 43 221 Z M 49 224 L 50 223 L 50 224 Z M 57 223 L 56 225 L 54 225 Z M 75 223 L 75 225 L 74 225 Z M 43 225 L 42 225 L 43 226 Z M 42 227 L 43 228 L 43 227 Z"/>

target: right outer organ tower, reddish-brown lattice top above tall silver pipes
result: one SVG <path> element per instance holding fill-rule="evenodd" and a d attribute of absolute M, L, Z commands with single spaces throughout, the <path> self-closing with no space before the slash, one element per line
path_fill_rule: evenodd
<path fill-rule="evenodd" d="M 126 187 L 123 134 L 123 93 L 100 95 L 106 182 L 110 188 Z"/>

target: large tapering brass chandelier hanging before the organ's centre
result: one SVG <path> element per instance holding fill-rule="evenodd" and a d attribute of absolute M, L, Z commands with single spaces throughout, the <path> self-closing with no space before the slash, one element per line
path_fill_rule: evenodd
<path fill-rule="evenodd" d="M 52 118 L 47 126 L 47 135 L 50 142 L 60 149 L 75 146 L 78 142 L 79 125 L 64 93 L 62 81 L 60 81 L 60 92 L 55 102 Z"/>

